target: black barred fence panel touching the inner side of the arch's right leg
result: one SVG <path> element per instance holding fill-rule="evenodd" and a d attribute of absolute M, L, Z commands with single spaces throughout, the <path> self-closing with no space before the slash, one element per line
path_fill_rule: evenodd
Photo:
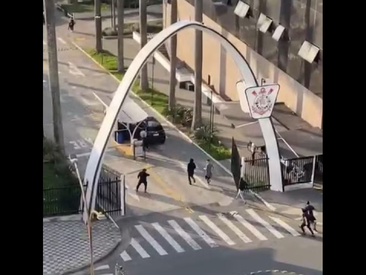
<path fill-rule="evenodd" d="M 249 192 L 252 190 L 260 192 L 268 190 L 270 188 L 268 158 L 259 158 L 254 160 L 247 158 L 244 163 L 243 178 L 247 183 L 244 191 Z"/>

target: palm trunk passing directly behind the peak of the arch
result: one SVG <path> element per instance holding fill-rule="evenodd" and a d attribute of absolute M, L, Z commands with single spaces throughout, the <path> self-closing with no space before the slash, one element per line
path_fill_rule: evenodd
<path fill-rule="evenodd" d="M 202 22 L 202 0 L 194 1 L 194 19 Z M 194 55 L 194 109 L 192 130 L 202 125 L 202 31 L 195 32 L 195 55 Z"/>

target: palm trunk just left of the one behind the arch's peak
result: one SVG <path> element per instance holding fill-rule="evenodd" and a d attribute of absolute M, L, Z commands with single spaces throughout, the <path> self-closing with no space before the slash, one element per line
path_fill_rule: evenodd
<path fill-rule="evenodd" d="M 172 0 L 171 24 L 177 22 L 177 0 Z M 169 79 L 169 110 L 175 106 L 175 71 L 177 65 L 177 35 L 170 39 L 170 79 Z"/>

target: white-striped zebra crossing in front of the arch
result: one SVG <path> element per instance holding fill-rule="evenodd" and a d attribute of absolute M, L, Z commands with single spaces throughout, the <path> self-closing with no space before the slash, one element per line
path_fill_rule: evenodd
<path fill-rule="evenodd" d="M 272 214 L 272 213 L 271 213 Z M 169 253 L 219 246 L 246 245 L 255 241 L 300 236 L 288 223 L 272 215 L 259 215 L 254 209 L 198 215 L 161 223 L 142 222 L 134 225 L 130 245 L 120 253 L 124 262 Z"/>

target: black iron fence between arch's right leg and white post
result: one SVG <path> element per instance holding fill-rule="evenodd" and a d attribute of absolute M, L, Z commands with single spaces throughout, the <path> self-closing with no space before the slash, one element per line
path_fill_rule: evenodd
<path fill-rule="evenodd" d="M 281 159 L 283 185 L 312 181 L 314 156 Z"/>

